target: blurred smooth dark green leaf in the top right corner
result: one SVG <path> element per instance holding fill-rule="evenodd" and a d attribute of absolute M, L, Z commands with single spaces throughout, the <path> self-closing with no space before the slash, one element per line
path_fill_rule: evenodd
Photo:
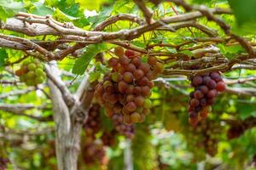
<path fill-rule="evenodd" d="M 229 3 L 238 25 L 241 26 L 249 22 L 256 22 L 255 0 L 229 0 Z"/>

